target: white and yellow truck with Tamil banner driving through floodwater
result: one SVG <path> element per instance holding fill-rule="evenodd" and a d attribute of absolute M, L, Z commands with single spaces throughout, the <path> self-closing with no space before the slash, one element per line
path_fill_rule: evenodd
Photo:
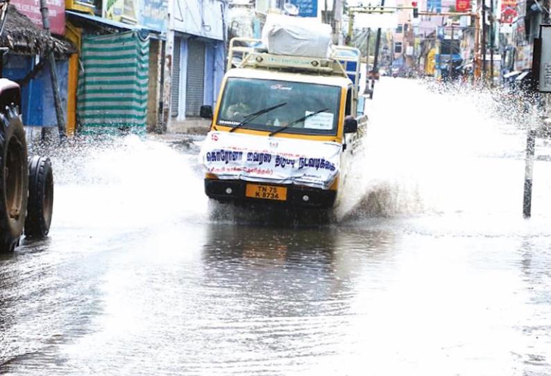
<path fill-rule="evenodd" d="M 201 108 L 212 118 L 201 150 L 205 194 L 238 203 L 337 205 L 348 158 L 366 129 L 357 108 L 359 50 L 332 46 L 320 58 L 255 47 L 261 44 L 230 41 L 221 99 L 214 114 Z"/>

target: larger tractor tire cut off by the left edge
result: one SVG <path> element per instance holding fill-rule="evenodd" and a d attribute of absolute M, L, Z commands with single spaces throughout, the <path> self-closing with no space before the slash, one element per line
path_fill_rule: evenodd
<path fill-rule="evenodd" d="M 25 130 L 14 106 L 0 112 L 0 252 L 19 245 L 27 212 L 28 165 Z"/>

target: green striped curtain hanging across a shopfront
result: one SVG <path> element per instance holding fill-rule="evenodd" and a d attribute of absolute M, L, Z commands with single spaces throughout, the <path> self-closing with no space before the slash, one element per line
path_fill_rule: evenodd
<path fill-rule="evenodd" d="M 149 38 L 137 31 L 83 37 L 77 110 L 80 133 L 146 129 Z"/>

